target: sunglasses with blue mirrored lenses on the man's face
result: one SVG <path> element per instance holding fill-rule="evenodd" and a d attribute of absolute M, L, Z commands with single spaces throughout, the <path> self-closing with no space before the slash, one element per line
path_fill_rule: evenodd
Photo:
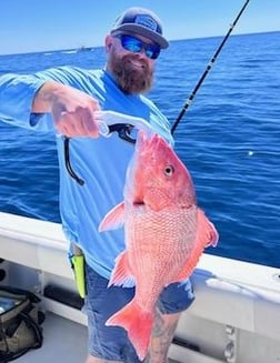
<path fill-rule="evenodd" d="M 150 59 L 157 59 L 160 54 L 160 46 L 146 43 L 142 40 L 132 36 L 119 34 L 116 38 L 120 39 L 123 49 L 132 53 L 139 53 L 144 50 L 144 53 Z"/>

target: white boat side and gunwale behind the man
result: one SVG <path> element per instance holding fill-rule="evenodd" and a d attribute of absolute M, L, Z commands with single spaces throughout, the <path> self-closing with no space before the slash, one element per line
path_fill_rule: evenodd
<path fill-rule="evenodd" d="M 77 296 L 67 250 L 68 243 L 60 224 L 0 213 L 0 259 L 6 261 L 2 265 L 7 266 L 7 276 L 9 265 L 12 265 L 13 274 L 17 265 L 19 271 L 24 266 L 32 276 L 28 279 L 29 288 L 40 293 L 46 310 L 87 324 L 81 311 L 68 304 L 67 299 L 63 301 L 56 299 L 56 294 L 50 296 L 44 293 L 51 286 L 52 291 L 54 288 Z M 20 272 L 19 276 L 22 278 Z M 244 335 L 249 341 L 252 335 L 262 336 L 269 344 L 280 346 L 279 269 L 203 253 L 191 279 L 197 298 L 180 320 L 178 344 L 172 345 L 171 352 L 181 349 L 180 342 L 192 341 L 190 329 L 192 334 L 197 334 L 198 351 L 204 346 L 210 355 L 217 356 L 222 345 L 224 355 L 228 354 L 227 362 L 234 361 L 230 354 L 238 351 L 237 345 L 242 344 Z M 24 285 L 28 283 L 24 282 Z M 219 346 L 210 346 L 210 342 L 202 341 L 201 332 L 196 332 L 199 322 L 203 322 L 206 331 L 209 330 L 209 336 L 216 334 L 214 341 L 219 342 Z M 196 346 L 191 346 L 190 351 L 194 354 Z"/>

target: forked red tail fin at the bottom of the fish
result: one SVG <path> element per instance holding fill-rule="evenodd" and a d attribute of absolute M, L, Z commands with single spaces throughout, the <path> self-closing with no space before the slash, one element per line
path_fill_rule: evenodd
<path fill-rule="evenodd" d="M 124 327 L 139 359 L 142 361 L 149 349 L 152 332 L 152 317 L 151 312 L 144 312 L 141 306 L 132 300 L 122 310 L 109 317 L 106 325 Z"/>

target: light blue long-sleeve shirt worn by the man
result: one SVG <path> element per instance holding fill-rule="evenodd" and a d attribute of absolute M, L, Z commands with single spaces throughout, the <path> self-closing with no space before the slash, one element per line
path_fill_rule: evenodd
<path fill-rule="evenodd" d="M 124 94 L 106 70 L 61 67 L 30 75 L 0 77 L 0 120 L 37 131 L 54 131 L 52 117 L 31 114 L 36 92 L 54 80 L 80 89 L 96 98 L 102 110 L 112 110 L 150 122 L 156 132 L 172 142 L 169 122 L 143 95 Z M 116 133 L 110 138 L 72 138 L 70 159 L 74 172 L 84 180 L 79 185 L 64 164 L 63 137 L 57 134 L 60 165 L 60 214 L 67 239 L 77 243 L 87 263 L 109 279 L 114 259 L 124 249 L 123 229 L 98 232 L 98 225 L 122 201 L 128 162 L 133 145 Z"/>

